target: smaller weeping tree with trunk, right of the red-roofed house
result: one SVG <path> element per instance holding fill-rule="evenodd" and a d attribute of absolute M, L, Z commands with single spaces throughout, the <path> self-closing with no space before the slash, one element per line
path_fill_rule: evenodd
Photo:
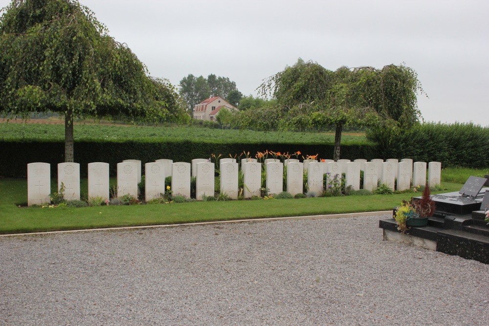
<path fill-rule="evenodd" d="M 423 92 L 416 72 L 404 65 L 386 65 L 382 69 L 342 66 L 331 71 L 300 58 L 259 87 L 259 95 L 277 99 L 277 108 L 264 111 L 280 121 L 282 128 L 333 126 L 335 160 L 339 159 L 344 126 L 390 121 L 408 127 L 419 121 L 418 91 Z"/>

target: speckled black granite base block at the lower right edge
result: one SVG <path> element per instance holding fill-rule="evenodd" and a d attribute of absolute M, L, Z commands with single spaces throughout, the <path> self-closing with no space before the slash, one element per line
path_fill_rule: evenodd
<path fill-rule="evenodd" d="M 489 237 L 461 230 L 437 233 L 436 250 L 489 264 Z"/>

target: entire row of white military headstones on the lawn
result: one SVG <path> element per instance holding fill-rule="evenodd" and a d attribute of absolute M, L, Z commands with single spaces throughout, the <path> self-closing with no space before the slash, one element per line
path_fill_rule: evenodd
<path fill-rule="evenodd" d="M 220 160 L 220 191 L 232 199 L 238 197 L 238 169 L 235 159 Z M 284 191 L 284 167 L 287 169 L 286 191 L 292 196 L 303 192 L 304 171 L 307 170 L 308 190 L 319 193 L 323 190 L 323 174 L 334 176 L 345 173 L 347 186 L 354 190 L 360 188 L 360 170 L 363 171 L 363 189 L 373 191 L 378 181 L 394 189 L 397 178 L 397 190 L 409 189 L 426 183 L 426 162 L 414 162 L 412 159 L 365 159 L 338 161 L 288 159 L 282 163 L 278 159 L 265 160 L 266 187 L 268 193 L 279 194 Z M 241 160 L 244 175 L 243 195 L 245 198 L 260 196 L 262 185 L 262 163 L 256 159 Z M 208 159 L 194 159 L 192 163 L 161 159 L 145 164 L 145 200 L 151 200 L 164 194 L 165 177 L 172 176 L 173 195 L 190 198 L 191 176 L 196 177 L 196 199 L 214 196 L 214 163 Z M 117 164 L 117 196 L 137 196 L 137 184 L 141 181 L 141 161 L 125 160 Z M 429 162 L 428 185 L 441 181 L 441 163 Z M 78 163 L 58 164 L 58 190 L 64 185 L 65 199 L 80 199 L 80 165 Z M 109 163 L 88 164 L 88 196 L 109 200 Z M 28 205 L 50 202 L 50 164 L 27 164 L 27 202 Z"/>

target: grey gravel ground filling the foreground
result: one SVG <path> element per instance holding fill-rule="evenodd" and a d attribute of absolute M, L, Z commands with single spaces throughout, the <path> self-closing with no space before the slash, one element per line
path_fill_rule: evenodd
<path fill-rule="evenodd" d="M 389 216 L 0 239 L 0 325 L 489 325 L 489 265 Z"/>

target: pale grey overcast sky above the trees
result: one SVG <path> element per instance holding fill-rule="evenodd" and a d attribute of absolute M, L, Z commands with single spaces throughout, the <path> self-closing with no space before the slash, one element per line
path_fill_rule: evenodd
<path fill-rule="evenodd" d="M 405 63 L 429 96 L 418 95 L 425 121 L 489 126 L 487 0 L 80 2 L 151 75 L 175 85 L 213 73 L 256 96 L 299 57 L 330 70 Z"/>

